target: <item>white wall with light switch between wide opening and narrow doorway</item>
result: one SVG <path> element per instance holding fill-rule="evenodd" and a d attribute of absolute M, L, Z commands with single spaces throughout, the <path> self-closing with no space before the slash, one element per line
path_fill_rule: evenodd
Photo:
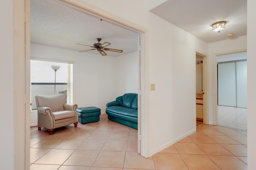
<path fill-rule="evenodd" d="M 148 29 L 149 69 L 145 76 L 149 82 L 145 83 L 156 87 L 155 91 L 147 91 L 149 155 L 193 133 L 196 130 L 196 51 L 207 54 L 208 44 L 149 12 L 148 0 L 84 1 L 94 6 L 104 4 L 100 8 Z"/>

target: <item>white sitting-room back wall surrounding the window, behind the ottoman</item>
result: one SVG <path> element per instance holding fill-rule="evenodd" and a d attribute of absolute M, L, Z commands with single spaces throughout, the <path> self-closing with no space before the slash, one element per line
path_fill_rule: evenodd
<path fill-rule="evenodd" d="M 116 97 L 116 57 L 31 43 L 31 57 L 74 61 L 73 103 L 95 106 L 105 113 L 106 103 Z"/>

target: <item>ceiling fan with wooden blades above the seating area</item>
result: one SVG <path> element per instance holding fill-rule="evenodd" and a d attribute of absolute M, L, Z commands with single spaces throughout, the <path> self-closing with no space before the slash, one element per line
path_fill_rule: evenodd
<path fill-rule="evenodd" d="M 94 49 L 88 49 L 88 50 L 83 50 L 83 51 L 79 51 L 79 52 L 86 52 L 86 51 L 97 50 L 103 56 L 107 55 L 105 53 L 105 51 L 103 51 L 103 50 L 114 51 L 114 52 L 118 52 L 118 53 L 122 53 L 123 52 L 122 50 L 118 50 L 118 49 L 108 49 L 108 48 L 105 48 L 108 45 L 110 45 L 111 43 L 105 42 L 105 43 L 102 44 L 102 43 L 100 43 L 101 38 L 97 38 L 97 40 L 98 40 L 98 43 L 94 43 L 92 46 L 91 45 L 84 45 L 84 44 L 76 43 L 77 45 L 84 45 L 84 46 L 88 46 L 88 47 L 94 48 Z"/>

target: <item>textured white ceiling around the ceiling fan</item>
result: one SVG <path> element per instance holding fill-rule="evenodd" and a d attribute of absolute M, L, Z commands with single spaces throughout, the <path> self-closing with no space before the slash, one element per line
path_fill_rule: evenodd
<path fill-rule="evenodd" d="M 30 6 L 32 43 L 82 51 L 91 48 L 75 43 L 93 45 L 102 38 L 100 43 L 111 43 L 107 48 L 123 50 L 105 51 L 110 56 L 137 51 L 138 33 L 48 0 L 31 0 Z M 96 50 L 84 53 L 99 54 Z"/>

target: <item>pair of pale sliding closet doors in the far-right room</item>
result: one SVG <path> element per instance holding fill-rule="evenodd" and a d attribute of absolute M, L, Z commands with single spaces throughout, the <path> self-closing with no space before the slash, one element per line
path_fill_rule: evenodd
<path fill-rule="evenodd" d="M 218 105 L 247 108 L 247 61 L 218 64 Z"/>

